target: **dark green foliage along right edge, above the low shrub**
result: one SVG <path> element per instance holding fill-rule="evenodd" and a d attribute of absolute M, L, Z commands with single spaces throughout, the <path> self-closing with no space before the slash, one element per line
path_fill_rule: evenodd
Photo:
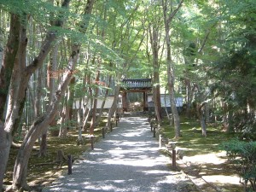
<path fill-rule="evenodd" d="M 231 3 L 232 2 L 232 3 Z M 241 137 L 255 141 L 256 27 L 255 1 L 224 1 L 215 61 L 207 71 L 211 89 L 228 105 L 230 125 Z M 253 6 L 254 5 L 254 6 Z"/>

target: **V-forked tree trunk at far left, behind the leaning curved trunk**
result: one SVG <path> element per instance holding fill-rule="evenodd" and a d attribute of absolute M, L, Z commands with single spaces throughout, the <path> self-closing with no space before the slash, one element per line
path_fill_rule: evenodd
<path fill-rule="evenodd" d="M 67 7 L 70 0 L 66 0 L 62 3 L 62 7 Z M 56 33 L 48 32 L 44 42 L 42 42 L 41 50 L 38 53 L 29 66 L 26 67 L 26 15 L 23 15 L 22 27 L 20 27 L 20 43 L 18 49 L 18 55 L 15 57 L 15 66 L 12 73 L 10 88 L 9 88 L 9 102 L 7 107 L 7 114 L 5 119 L 3 133 L 6 137 L 3 138 L 3 143 L 6 144 L 6 150 L 3 151 L 3 162 L 7 162 L 9 158 L 10 144 L 12 143 L 11 134 L 15 132 L 15 129 L 20 123 L 20 116 L 24 108 L 24 103 L 26 101 L 26 89 L 28 86 L 28 81 L 38 67 L 43 65 L 45 57 L 48 55 L 49 50 L 52 48 L 52 42 L 55 41 Z M 61 26 L 59 22 L 55 22 L 55 25 Z M 20 77 L 20 74 L 22 76 Z M 6 169 L 6 164 L 1 164 L 0 166 L 5 166 L 1 168 L 1 171 Z M 1 179 L 4 172 L 0 172 Z M 2 183 L 3 181 L 1 181 Z"/>

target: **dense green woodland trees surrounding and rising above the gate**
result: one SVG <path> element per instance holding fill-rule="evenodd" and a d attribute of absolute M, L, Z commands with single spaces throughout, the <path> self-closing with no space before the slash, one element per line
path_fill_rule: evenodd
<path fill-rule="evenodd" d="M 0 190 L 12 143 L 22 142 L 12 188 L 26 188 L 35 141 L 39 138 L 40 155 L 47 155 L 48 130 L 65 137 L 67 128 L 89 128 L 90 117 L 93 135 L 101 118 L 99 95 L 114 95 L 109 126 L 124 77 L 153 78 L 159 124 L 160 90 L 167 88 L 177 138 L 182 127 L 175 99 L 183 96 L 186 114 L 201 121 L 203 136 L 207 123 L 221 119 L 225 131 L 255 140 L 255 5 L 253 0 L 0 1 Z M 76 113 L 74 101 L 80 103 Z"/>

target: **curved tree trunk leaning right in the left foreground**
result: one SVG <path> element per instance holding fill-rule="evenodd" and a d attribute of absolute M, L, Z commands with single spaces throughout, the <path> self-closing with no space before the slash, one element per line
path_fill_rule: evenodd
<path fill-rule="evenodd" d="M 58 112 L 58 105 L 61 102 L 61 98 L 67 89 L 70 80 L 73 77 L 73 70 L 79 58 L 79 45 L 73 45 L 73 54 L 70 57 L 67 72 L 64 73 L 62 83 L 59 85 L 58 90 L 55 92 L 55 101 L 49 105 L 47 112 L 37 119 L 30 130 L 26 134 L 26 137 L 21 144 L 19 153 L 15 161 L 14 176 L 13 176 L 13 189 L 25 188 L 26 185 L 26 172 L 27 162 L 29 160 L 32 147 L 40 136 L 42 131 L 47 129 L 49 123 L 55 118 L 55 114 Z"/>

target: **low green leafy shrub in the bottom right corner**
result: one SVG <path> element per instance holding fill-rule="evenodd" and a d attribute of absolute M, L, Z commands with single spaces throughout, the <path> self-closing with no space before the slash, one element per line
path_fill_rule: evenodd
<path fill-rule="evenodd" d="M 256 191 L 256 142 L 233 139 L 222 143 L 221 148 L 227 152 L 230 162 L 235 166 L 245 187 Z M 247 186 L 248 182 L 250 186 Z"/>

